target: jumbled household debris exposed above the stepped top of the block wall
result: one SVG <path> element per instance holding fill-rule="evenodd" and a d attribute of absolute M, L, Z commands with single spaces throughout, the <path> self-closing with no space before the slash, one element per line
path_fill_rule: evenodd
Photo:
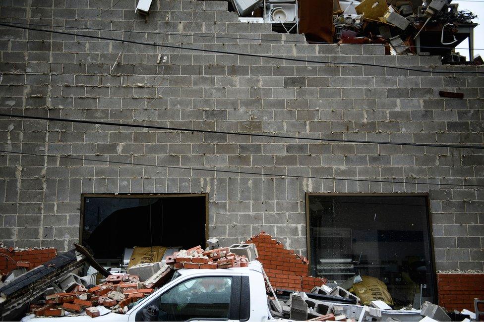
<path fill-rule="evenodd" d="M 239 21 L 304 33 L 308 42 L 385 44 L 386 54 L 439 55 L 447 64 L 469 63 L 454 48 L 465 39 L 472 41 L 477 15 L 458 10 L 451 1 L 307 0 L 298 6 L 293 0 L 231 0 Z M 277 29 L 280 24 L 289 28 Z M 473 57 L 471 42 L 469 47 L 470 63 L 482 64 L 482 58 Z"/>

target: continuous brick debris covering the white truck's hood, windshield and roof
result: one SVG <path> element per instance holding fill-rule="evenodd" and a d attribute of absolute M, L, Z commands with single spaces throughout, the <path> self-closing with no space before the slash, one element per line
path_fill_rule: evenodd
<path fill-rule="evenodd" d="M 110 312 L 124 314 L 169 281 L 176 269 L 247 267 L 247 257 L 256 257 L 255 247 L 250 246 L 236 244 L 232 248 L 207 250 L 196 246 L 180 250 L 167 255 L 163 262 L 143 263 L 128 268 L 127 273 L 111 274 L 98 285 L 88 285 L 92 280 L 89 275 L 79 277 L 71 273 L 48 288 L 44 300 L 30 306 L 30 313 L 36 317 L 88 315 L 92 318 Z"/>

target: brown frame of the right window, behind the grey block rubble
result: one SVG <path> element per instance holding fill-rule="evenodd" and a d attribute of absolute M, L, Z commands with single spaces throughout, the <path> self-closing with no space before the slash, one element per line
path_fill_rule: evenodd
<path fill-rule="evenodd" d="M 425 227 L 429 234 L 429 259 L 430 259 L 430 268 L 431 268 L 431 276 L 433 279 L 433 294 L 435 299 L 438 299 L 437 293 L 437 272 L 435 268 L 435 246 L 433 244 L 433 230 L 432 230 L 432 216 L 430 214 L 430 195 L 429 193 L 337 193 L 337 192 L 306 192 L 305 193 L 305 211 L 306 211 L 306 257 L 309 263 L 311 263 L 311 237 L 310 237 L 310 227 L 309 227 L 309 197 L 311 196 L 335 196 L 335 197 L 351 197 L 351 196 L 370 196 L 370 197 L 385 197 L 385 196 L 409 196 L 409 197 L 424 197 L 426 201 L 426 216 L 427 216 L 427 226 Z"/>

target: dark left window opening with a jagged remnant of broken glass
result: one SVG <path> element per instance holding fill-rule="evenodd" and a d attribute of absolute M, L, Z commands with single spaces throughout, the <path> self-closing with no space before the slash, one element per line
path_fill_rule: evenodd
<path fill-rule="evenodd" d="M 207 239 L 206 194 L 82 195 L 80 241 L 101 263 L 134 246 L 191 248 Z"/>

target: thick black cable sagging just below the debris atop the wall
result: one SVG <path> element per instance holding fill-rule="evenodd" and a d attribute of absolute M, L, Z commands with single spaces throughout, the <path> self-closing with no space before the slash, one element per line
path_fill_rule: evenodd
<path fill-rule="evenodd" d="M 0 22 L 0 25 L 1 26 L 6 26 L 6 27 L 13 27 L 13 28 L 24 29 L 24 30 L 33 30 L 33 31 L 41 31 L 41 32 L 47 32 L 47 33 L 54 33 L 54 34 L 60 34 L 60 35 L 70 35 L 70 36 L 75 36 L 75 37 L 85 37 L 85 38 L 91 38 L 91 39 L 102 39 L 102 40 L 118 41 L 118 42 L 125 42 L 125 43 L 137 44 L 137 45 L 146 45 L 146 46 L 154 46 L 154 47 L 174 48 L 174 49 L 180 49 L 180 50 L 181 49 L 184 49 L 184 50 L 195 51 L 195 52 L 204 52 L 204 53 L 232 54 L 232 55 L 240 55 L 240 56 L 248 56 L 248 57 L 277 59 L 277 60 L 311 62 L 311 63 L 318 63 L 318 64 L 371 66 L 371 67 L 381 67 L 381 68 L 390 68 L 390 69 L 399 69 L 399 70 L 418 71 L 418 72 L 430 73 L 430 74 L 431 73 L 436 73 L 436 74 L 484 74 L 484 71 L 425 70 L 425 69 L 410 68 L 410 67 L 385 66 L 385 65 L 378 65 L 378 64 L 371 64 L 371 63 L 363 63 L 363 62 L 331 62 L 331 61 L 323 61 L 323 60 L 309 60 L 309 59 L 300 59 L 300 58 L 280 57 L 280 56 L 273 56 L 273 55 L 245 54 L 245 53 L 236 53 L 236 52 L 227 52 L 227 51 L 224 52 L 224 51 L 210 50 L 210 49 L 199 49 L 199 48 L 191 48 L 191 47 L 184 47 L 184 46 L 162 45 L 162 44 L 139 42 L 139 41 L 133 41 L 133 40 L 123 40 L 123 39 L 111 38 L 111 37 L 101 37 L 101 36 L 92 36 L 92 35 L 79 35 L 79 34 L 65 32 L 65 31 L 46 30 L 46 29 L 32 28 L 32 27 L 22 27 L 22 26 L 12 25 L 12 24 L 8 24 L 8 23 L 1 23 L 1 22 Z"/>

